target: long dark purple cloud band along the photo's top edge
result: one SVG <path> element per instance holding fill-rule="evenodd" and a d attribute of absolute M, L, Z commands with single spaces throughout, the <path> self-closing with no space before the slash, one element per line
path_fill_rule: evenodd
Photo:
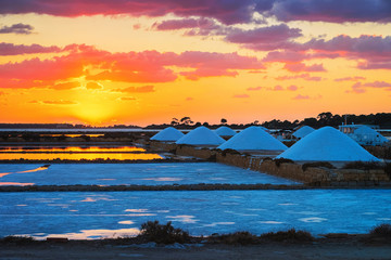
<path fill-rule="evenodd" d="M 254 14 L 274 16 L 279 21 L 310 22 L 388 22 L 391 3 L 388 0 L 9 0 L 3 1 L 0 14 L 38 13 L 56 16 L 133 15 L 216 18 L 224 24 L 243 24 Z"/>

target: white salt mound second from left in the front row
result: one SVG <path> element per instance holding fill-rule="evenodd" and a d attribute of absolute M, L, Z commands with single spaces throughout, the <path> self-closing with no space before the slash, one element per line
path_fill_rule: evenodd
<path fill-rule="evenodd" d="M 225 140 L 205 127 L 198 127 L 176 141 L 176 144 L 220 145 Z"/>

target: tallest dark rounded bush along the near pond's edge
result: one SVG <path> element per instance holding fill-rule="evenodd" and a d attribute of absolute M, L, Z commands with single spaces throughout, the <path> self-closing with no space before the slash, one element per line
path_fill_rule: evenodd
<path fill-rule="evenodd" d="M 166 224 L 159 224 L 157 220 L 153 222 L 148 221 L 141 224 L 141 233 L 139 236 L 148 242 L 157 244 L 184 244 L 190 242 L 189 233 L 181 229 L 174 229 L 171 221 Z"/>

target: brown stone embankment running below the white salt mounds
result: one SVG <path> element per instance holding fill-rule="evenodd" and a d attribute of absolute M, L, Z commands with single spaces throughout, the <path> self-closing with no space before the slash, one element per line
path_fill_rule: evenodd
<path fill-rule="evenodd" d="M 241 154 L 236 151 L 220 151 L 173 143 L 151 142 L 154 151 L 171 152 L 181 156 L 193 156 L 211 161 L 266 172 L 304 183 L 306 186 L 391 186 L 391 173 L 384 169 L 341 169 L 320 166 L 308 167 L 289 160 L 273 160 L 265 156 Z"/>

